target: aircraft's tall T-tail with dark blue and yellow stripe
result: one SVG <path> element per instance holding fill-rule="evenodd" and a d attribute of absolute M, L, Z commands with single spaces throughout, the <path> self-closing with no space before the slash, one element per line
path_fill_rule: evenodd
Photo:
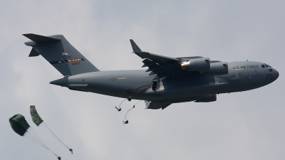
<path fill-rule="evenodd" d="M 26 46 L 33 47 L 29 57 L 42 55 L 62 75 L 77 75 L 99 71 L 62 35 L 40 36 L 32 33 L 23 34 L 31 41 Z"/>

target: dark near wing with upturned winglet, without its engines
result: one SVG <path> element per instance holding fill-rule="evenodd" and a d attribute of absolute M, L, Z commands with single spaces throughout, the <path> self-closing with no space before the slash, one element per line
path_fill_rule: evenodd
<path fill-rule="evenodd" d="M 160 78 L 166 78 L 170 75 L 182 71 L 181 63 L 185 60 L 202 57 L 187 57 L 187 58 L 171 58 L 163 55 L 157 55 L 154 53 L 148 53 L 140 50 L 138 45 L 130 39 L 130 44 L 133 47 L 133 53 L 142 58 L 142 68 L 148 67 L 146 72 L 150 72 L 149 75 L 156 75 L 152 80 Z"/>

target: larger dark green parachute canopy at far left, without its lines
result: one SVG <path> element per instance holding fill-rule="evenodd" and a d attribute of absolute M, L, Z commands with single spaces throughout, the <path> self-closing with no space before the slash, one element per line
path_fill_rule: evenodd
<path fill-rule="evenodd" d="M 13 117 L 9 119 L 12 129 L 14 132 L 19 134 L 20 136 L 24 136 L 24 134 L 28 131 L 30 125 L 26 122 L 26 119 L 21 114 L 15 114 Z"/>

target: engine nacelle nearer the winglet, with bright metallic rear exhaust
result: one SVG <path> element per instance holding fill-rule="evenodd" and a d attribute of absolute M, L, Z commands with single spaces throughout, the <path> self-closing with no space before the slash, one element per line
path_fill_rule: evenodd
<path fill-rule="evenodd" d="M 182 62 L 183 70 L 206 71 L 210 68 L 209 58 L 195 58 Z"/>

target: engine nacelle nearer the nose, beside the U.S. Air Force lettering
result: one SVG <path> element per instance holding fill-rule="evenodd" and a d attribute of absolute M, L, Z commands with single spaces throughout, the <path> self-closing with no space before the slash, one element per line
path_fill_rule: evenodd
<path fill-rule="evenodd" d="M 210 69 L 206 73 L 209 75 L 227 75 L 229 68 L 226 62 L 210 63 Z"/>

